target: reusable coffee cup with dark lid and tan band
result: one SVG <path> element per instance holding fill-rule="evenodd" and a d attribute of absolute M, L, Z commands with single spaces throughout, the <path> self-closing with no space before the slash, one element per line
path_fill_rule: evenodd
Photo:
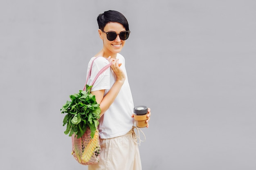
<path fill-rule="evenodd" d="M 138 128 L 144 128 L 147 126 L 146 120 L 148 119 L 148 107 L 147 106 L 136 106 L 133 108 L 134 119 Z"/>

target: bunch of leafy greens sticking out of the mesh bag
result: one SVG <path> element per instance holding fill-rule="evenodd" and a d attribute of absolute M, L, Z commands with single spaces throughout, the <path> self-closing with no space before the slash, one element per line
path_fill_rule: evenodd
<path fill-rule="evenodd" d="M 86 85 L 87 91 L 79 91 L 70 95 L 71 101 L 67 101 L 61 108 L 61 113 L 67 113 L 63 119 L 63 126 L 67 125 L 65 134 L 76 134 L 80 138 L 85 130 L 90 127 L 91 137 L 94 137 L 101 109 L 94 95 L 90 93 L 92 86 Z"/>

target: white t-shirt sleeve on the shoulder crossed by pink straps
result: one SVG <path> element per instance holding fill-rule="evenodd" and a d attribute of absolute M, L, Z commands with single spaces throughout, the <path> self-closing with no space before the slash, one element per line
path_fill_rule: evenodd
<path fill-rule="evenodd" d="M 90 60 L 90 62 L 88 64 L 88 71 L 90 69 L 93 59 L 94 59 L 94 57 Z M 96 60 L 94 60 L 94 62 L 92 64 L 91 76 L 88 79 L 87 84 L 91 85 L 94 78 L 101 70 L 101 68 L 103 68 L 104 66 L 106 66 L 108 64 L 109 64 L 108 60 L 104 57 L 98 57 Z M 87 71 L 87 75 L 88 75 L 88 71 Z M 97 80 L 94 82 L 94 84 L 91 88 L 91 91 L 98 91 L 98 90 L 109 89 L 109 88 L 110 88 L 110 68 L 108 68 L 106 71 L 101 73 L 101 75 L 99 75 Z"/>

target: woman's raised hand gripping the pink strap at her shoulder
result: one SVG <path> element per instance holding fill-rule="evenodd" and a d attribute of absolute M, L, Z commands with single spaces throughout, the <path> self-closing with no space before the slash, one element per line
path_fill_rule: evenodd
<path fill-rule="evenodd" d="M 114 59 L 114 58 L 111 58 L 111 57 L 108 57 L 108 61 L 112 62 L 112 65 L 110 67 L 111 67 L 112 71 L 115 73 L 115 75 L 117 76 L 116 81 L 124 83 L 124 80 L 126 79 L 126 77 L 125 77 L 124 72 L 120 68 L 122 63 L 118 63 L 119 59 Z"/>

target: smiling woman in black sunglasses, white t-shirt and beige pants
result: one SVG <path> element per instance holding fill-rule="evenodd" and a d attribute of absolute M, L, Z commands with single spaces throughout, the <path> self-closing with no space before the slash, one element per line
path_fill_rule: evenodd
<path fill-rule="evenodd" d="M 112 62 L 94 83 L 91 93 L 100 104 L 99 136 L 100 161 L 88 166 L 88 170 L 141 170 L 139 149 L 134 135 L 133 100 L 127 79 L 125 59 L 119 54 L 130 35 L 129 25 L 118 11 L 105 11 L 97 18 L 99 37 L 103 48 L 88 64 L 92 83 L 101 68 Z M 148 108 L 148 121 L 150 120 Z M 147 125 L 148 127 L 148 125 Z"/>

